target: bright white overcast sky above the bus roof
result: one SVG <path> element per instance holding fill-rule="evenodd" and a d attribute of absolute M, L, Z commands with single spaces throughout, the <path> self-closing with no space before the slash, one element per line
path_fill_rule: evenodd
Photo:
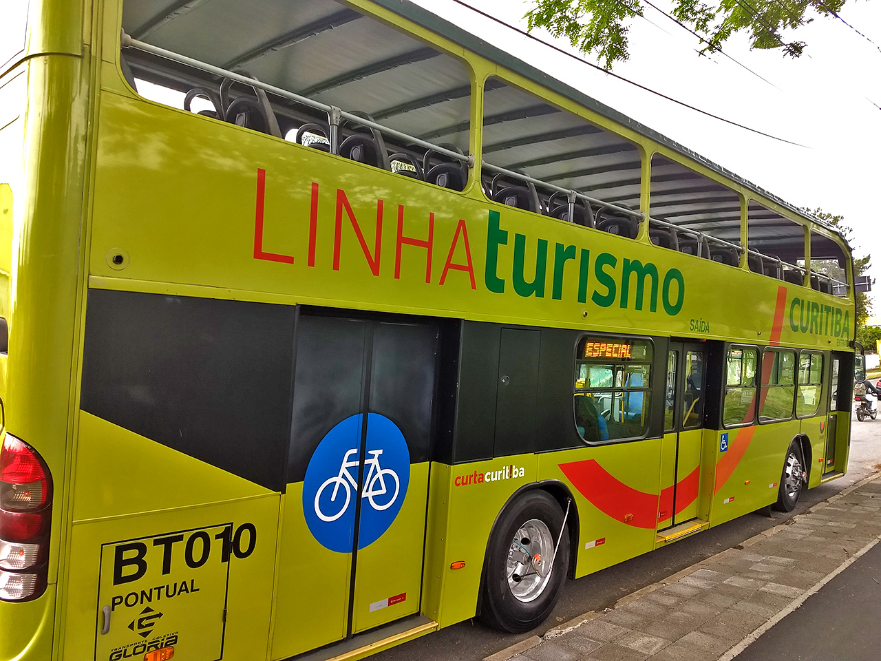
<path fill-rule="evenodd" d="M 677 100 L 782 137 L 796 147 L 700 115 L 586 64 L 453 3 L 414 0 L 499 48 L 547 71 L 596 100 L 633 117 L 663 135 L 754 182 L 789 204 L 844 216 L 854 228 L 855 256 L 872 254 L 870 276 L 877 279 L 875 315 L 881 315 L 881 231 L 877 201 L 881 192 L 881 50 L 837 19 L 816 19 L 784 41 L 807 41 L 793 60 L 779 50 L 750 50 L 736 35 L 723 45 L 727 57 L 700 57 L 700 41 L 657 11 L 633 19 L 630 60 L 615 65 L 620 76 Z M 469 0 L 493 16 L 525 29 L 525 0 Z M 666 0 L 655 4 L 670 12 Z M 881 44 L 881 3 L 850 0 L 843 19 Z M 655 25 L 652 25 L 654 23 Z M 537 36 L 551 41 L 545 33 Z M 555 42 L 571 49 L 565 40 Z M 867 98 L 870 100 L 867 100 Z"/>

